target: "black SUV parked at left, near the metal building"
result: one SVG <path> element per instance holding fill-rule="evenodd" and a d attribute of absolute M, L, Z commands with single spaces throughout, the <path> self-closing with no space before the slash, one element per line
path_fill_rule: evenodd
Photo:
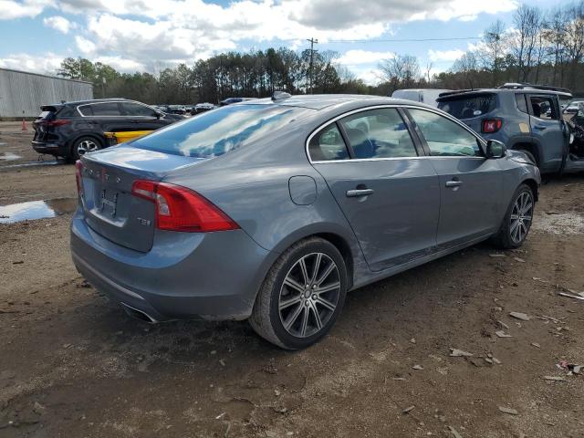
<path fill-rule="evenodd" d="M 105 132 L 158 130 L 181 116 L 128 99 L 95 99 L 43 105 L 33 122 L 33 149 L 77 160 L 108 146 Z"/>

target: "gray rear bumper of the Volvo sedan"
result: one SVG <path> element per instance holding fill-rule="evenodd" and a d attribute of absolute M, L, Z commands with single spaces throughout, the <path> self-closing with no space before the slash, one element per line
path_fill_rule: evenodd
<path fill-rule="evenodd" d="M 157 230 L 151 251 L 141 253 L 98 235 L 78 212 L 71 254 L 90 284 L 151 320 L 248 318 L 277 254 L 243 230 L 178 235 Z"/>

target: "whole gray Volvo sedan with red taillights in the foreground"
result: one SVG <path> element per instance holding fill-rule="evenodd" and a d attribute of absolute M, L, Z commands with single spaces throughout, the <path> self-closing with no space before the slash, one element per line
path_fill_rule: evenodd
<path fill-rule="evenodd" d="M 302 349 L 351 289 L 527 237 L 540 175 L 441 110 L 257 99 L 77 162 L 75 266 L 138 318 L 245 319 Z"/>

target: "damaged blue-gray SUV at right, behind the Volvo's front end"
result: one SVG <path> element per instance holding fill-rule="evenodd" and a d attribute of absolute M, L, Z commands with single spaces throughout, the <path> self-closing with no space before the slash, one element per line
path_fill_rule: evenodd
<path fill-rule="evenodd" d="M 579 172 L 584 171 L 584 155 L 572 145 L 573 136 L 560 110 L 571 99 L 568 89 L 506 84 L 443 93 L 438 108 L 486 140 L 524 151 L 542 173 Z"/>

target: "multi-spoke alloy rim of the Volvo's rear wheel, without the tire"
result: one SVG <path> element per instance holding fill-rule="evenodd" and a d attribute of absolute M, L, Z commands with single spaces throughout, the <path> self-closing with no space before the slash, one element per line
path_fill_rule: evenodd
<path fill-rule="evenodd" d="M 339 267 L 328 255 L 304 255 L 290 268 L 278 299 L 278 313 L 287 332 L 308 338 L 325 327 L 339 303 Z"/>

